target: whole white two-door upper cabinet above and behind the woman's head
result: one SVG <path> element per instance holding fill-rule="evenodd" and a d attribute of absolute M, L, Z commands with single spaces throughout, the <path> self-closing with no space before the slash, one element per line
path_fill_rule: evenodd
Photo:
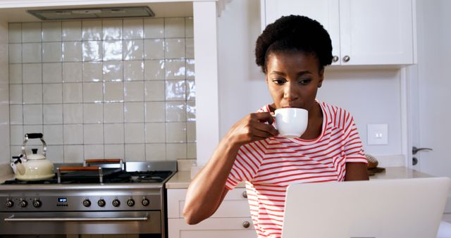
<path fill-rule="evenodd" d="M 290 14 L 307 15 L 328 30 L 333 65 L 416 63 L 412 0 L 261 0 L 262 29 Z"/>

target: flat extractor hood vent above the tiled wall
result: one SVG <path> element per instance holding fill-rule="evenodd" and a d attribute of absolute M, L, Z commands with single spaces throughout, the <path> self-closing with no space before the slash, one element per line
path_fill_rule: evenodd
<path fill-rule="evenodd" d="M 155 15 L 155 13 L 148 6 L 130 6 L 117 8 L 49 9 L 49 10 L 30 10 L 27 12 L 41 20 L 131 18 L 131 17 L 149 17 Z"/>

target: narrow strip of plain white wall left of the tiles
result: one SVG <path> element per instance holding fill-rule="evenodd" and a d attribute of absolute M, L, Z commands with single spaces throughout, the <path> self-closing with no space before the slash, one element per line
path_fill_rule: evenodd
<path fill-rule="evenodd" d="M 0 163 L 9 162 L 8 24 L 0 23 Z"/>

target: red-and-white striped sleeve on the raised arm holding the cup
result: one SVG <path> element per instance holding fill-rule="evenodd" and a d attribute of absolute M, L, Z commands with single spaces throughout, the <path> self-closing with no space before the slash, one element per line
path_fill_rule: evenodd
<path fill-rule="evenodd" d="M 250 181 L 257 174 L 264 152 L 259 142 L 245 144 L 238 150 L 232 170 L 227 177 L 226 188 L 234 189 L 240 182 Z"/>

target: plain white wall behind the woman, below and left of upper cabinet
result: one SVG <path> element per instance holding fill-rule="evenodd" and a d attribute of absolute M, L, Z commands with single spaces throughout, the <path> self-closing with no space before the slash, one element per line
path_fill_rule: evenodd
<path fill-rule="evenodd" d="M 232 1 L 218 18 L 220 136 L 247 113 L 271 103 L 264 75 L 254 63 L 260 34 L 259 1 Z M 318 99 L 353 115 L 369 154 L 402 154 L 399 70 L 326 70 Z M 388 145 L 367 146 L 366 124 L 387 123 Z"/>

